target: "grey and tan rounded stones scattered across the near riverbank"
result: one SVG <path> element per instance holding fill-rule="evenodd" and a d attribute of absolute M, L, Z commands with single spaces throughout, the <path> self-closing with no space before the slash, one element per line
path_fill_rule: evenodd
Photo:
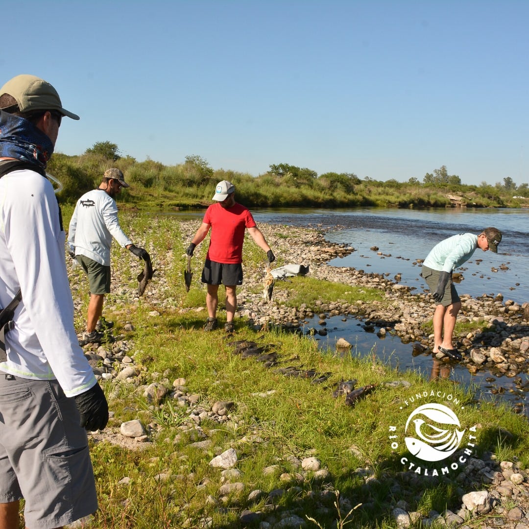
<path fill-rule="evenodd" d="M 183 234 L 184 248 L 198 227 L 198 222 L 190 221 L 180 224 Z M 422 324 L 431 320 L 434 305 L 431 298 L 424 293 L 416 293 L 408 287 L 384 276 L 364 273 L 349 268 L 335 268 L 326 265 L 326 261 L 353 251 L 352 248 L 330 244 L 325 240 L 324 233 L 314 229 L 302 229 L 280 225 L 261 225 L 260 229 L 266 236 L 276 256 L 286 263 L 296 263 L 309 267 L 308 275 L 317 279 L 341 282 L 351 286 L 374 287 L 385 293 L 385 302 L 372 304 L 346 304 L 340 300 L 333 303 L 316 303 L 315 306 L 301 306 L 290 308 L 285 305 L 286 293 L 275 291 L 272 303 L 266 303 L 262 297 L 261 285 L 264 270 L 245 267 L 245 281 L 238 290 L 238 316 L 249 318 L 250 325 L 261 328 L 263 325 L 280 325 L 287 329 L 302 329 L 306 318 L 318 315 L 323 322 L 329 315 L 349 314 L 362 318 L 366 323 L 375 327 L 376 332 L 396 333 L 402 340 L 414 343 L 417 350 L 424 352 L 432 348 L 432 338 L 422 331 Z M 141 242 L 141 237 L 136 238 Z M 145 247 L 151 252 L 148 241 Z M 165 254 L 156 250 L 151 253 L 154 268 L 158 271 L 153 281 L 147 287 L 143 300 L 152 309 L 152 315 L 166 311 L 188 310 L 181 307 L 174 294 L 175 286 L 167 279 L 174 267 L 175 260 L 181 260 L 181 255 L 168 249 Z M 133 289 L 126 284 L 126 278 L 131 271 L 127 268 L 126 260 L 113 265 L 113 302 L 105 307 L 105 312 L 120 314 L 120 323 L 126 331 L 134 331 L 130 321 L 127 321 L 123 306 L 134 304 L 138 298 Z M 196 280 L 196 278 L 195 278 Z M 183 278 L 182 278 L 183 281 Z M 257 293 L 256 293 L 257 292 Z M 74 293 L 74 297 L 75 293 Z M 80 299 L 75 299 L 80 306 Z M 192 310 L 196 311 L 196 308 Z M 525 313 L 524 313 L 525 311 Z M 483 297 L 480 299 L 465 298 L 461 318 L 468 320 L 482 319 L 491 323 L 488 331 L 480 334 L 466 334 L 459 336 L 457 344 L 464 351 L 464 362 L 470 370 L 497 369 L 507 377 L 526 372 L 528 362 L 527 345 L 529 343 L 528 317 L 526 306 L 518 306 L 509 300 Z M 204 314 L 205 309 L 198 314 Z M 321 329 L 315 330 L 320 332 Z M 222 332 L 222 331 L 219 331 Z M 177 428 L 179 434 L 172 443 L 186 442 L 196 450 L 207 453 L 213 452 L 215 457 L 209 464 L 217 467 L 220 478 L 217 494 L 208 498 L 209 505 L 215 509 L 239 509 L 240 527 L 260 527 L 260 529 L 276 529 L 279 527 L 310 527 L 313 526 L 306 519 L 299 516 L 296 509 L 281 510 L 277 507 L 278 498 L 286 494 L 299 495 L 300 501 L 309 501 L 313 505 L 314 513 L 333 512 L 334 501 L 338 502 L 342 516 L 345 516 L 355 505 L 358 498 L 340 495 L 337 499 L 332 486 L 333 476 L 322 462 L 314 457 L 297 459 L 290 457 L 270 461 L 263 473 L 277 474 L 281 488 L 273 490 L 252 489 L 245 484 L 243 476 L 236 468 L 239 449 L 238 443 L 249 444 L 259 449 L 263 442 L 262 432 L 256 426 L 254 430 L 237 440 L 230 448 L 217 447 L 212 444 L 207 431 L 202 427 L 206 421 L 218 423 L 219 426 L 229 427 L 235 431 L 240 424 L 236 403 L 225 401 L 211 401 L 198 394 L 190 392 L 185 379 L 169 379 L 168 373 L 152 373 L 146 375 L 144 368 L 139 366 L 134 358 L 133 340 L 125 340 L 124 336 L 113 334 L 113 330 L 106 331 L 108 341 L 105 344 L 87 344 L 86 354 L 98 377 L 111 384 L 111 398 L 120 398 L 120 387 L 128 385 L 134 394 L 141 395 L 147 402 L 154 405 L 170 399 L 179 409 L 186 411 L 186 418 Z M 501 358 L 500 358 L 501 357 Z M 439 358 L 443 361 L 443 358 Z M 263 394 L 262 398 L 267 398 Z M 112 409 L 112 406 L 111 406 Z M 167 432 L 147 410 L 138 410 L 138 418 L 122 423 L 119 427 L 108 427 L 104 433 L 94 433 L 94 442 L 109 441 L 126 449 L 138 450 L 148 448 L 152 443 L 166 443 Z M 163 436 L 162 436 L 163 435 Z M 508 439 L 510 433 L 503 431 L 503 438 Z M 354 445 L 350 450 L 362 460 L 362 451 Z M 363 504 L 360 509 L 371 512 L 375 509 L 370 504 L 371 487 L 380 485 L 380 480 L 390 484 L 390 494 L 387 505 L 377 506 L 377 510 L 385 510 L 393 517 L 395 524 L 408 527 L 412 524 L 422 526 L 459 526 L 466 527 L 506 527 L 507 529 L 529 529 L 529 476 L 518 467 L 514 461 L 497 461 L 494 454 L 485 453 L 480 458 L 471 458 L 463 472 L 457 477 L 457 488 L 460 493 L 460 504 L 452 505 L 450 510 L 430 512 L 421 515 L 411 508 L 414 491 L 418 479 L 411 471 L 382 473 L 374 476 L 369 461 L 362 461 L 362 466 L 356 471 L 362 477 L 363 485 L 358 491 Z M 131 478 L 124 476 L 120 485 L 126 486 Z M 156 477 L 159 481 L 179 479 L 178 476 L 160 473 Z M 448 478 L 443 478 L 448 479 Z M 198 484 L 203 487 L 204 484 Z M 307 492 L 307 488 L 309 491 Z M 469 492 L 470 491 L 470 492 Z M 233 498 L 237 498 L 235 503 Z M 264 507 L 262 499 L 264 501 Z M 257 508 L 256 505 L 260 507 Z M 186 522 L 186 521 L 185 521 Z M 189 519 L 187 525 L 193 521 Z M 212 527 L 211 519 L 205 517 L 200 521 L 203 527 Z M 186 523 L 184 523 L 184 526 Z"/>

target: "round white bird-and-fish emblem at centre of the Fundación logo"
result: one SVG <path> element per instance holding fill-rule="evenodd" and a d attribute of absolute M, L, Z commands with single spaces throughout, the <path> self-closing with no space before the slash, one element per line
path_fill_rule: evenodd
<path fill-rule="evenodd" d="M 412 426 L 413 425 L 413 426 Z M 413 427 L 415 436 L 404 441 L 412 455 L 424 461 L 441 461 L 458 448 L 466 430 L 460 430 L 457 415 L 442 404 L 423 404 L 409 415 L 405 431 Z"/>

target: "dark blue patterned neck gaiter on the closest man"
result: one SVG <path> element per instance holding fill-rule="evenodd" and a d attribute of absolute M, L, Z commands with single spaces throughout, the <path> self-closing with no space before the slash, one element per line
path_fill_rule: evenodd
<path fill-rule="evenodd" d="M 35 125 L 0 111 L 0 158 L 16 158 L 45 169 L 52 153 L 53 143 Z"/>

